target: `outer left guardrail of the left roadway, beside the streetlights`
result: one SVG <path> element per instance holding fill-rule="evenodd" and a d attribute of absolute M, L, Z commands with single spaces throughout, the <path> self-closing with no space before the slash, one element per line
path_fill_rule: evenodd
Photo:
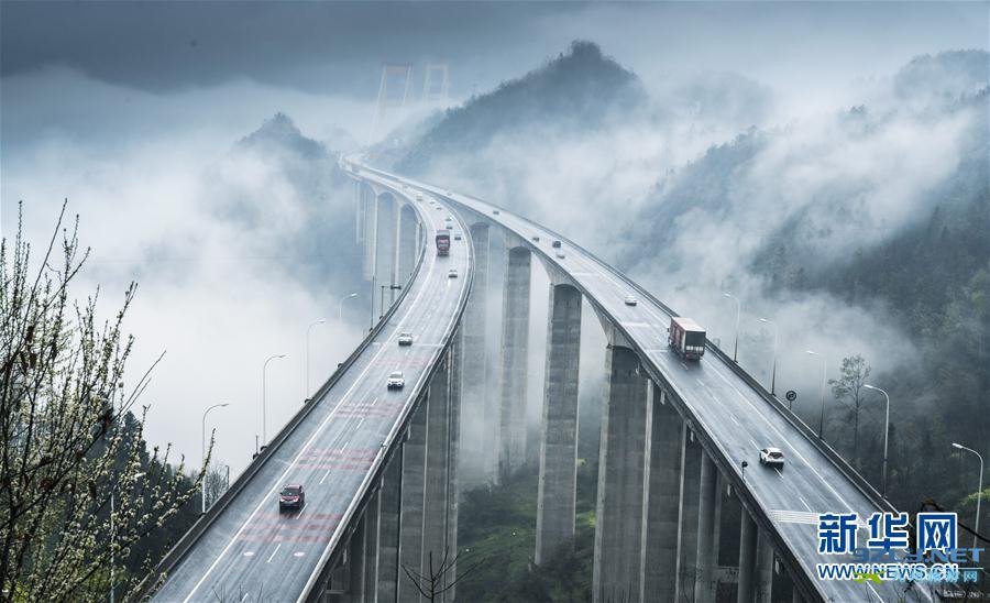
<path fill-rule="evenodd" d="M 409 276 L 407 283 L 411 283 L 419 275 L 419 271 L 422 266 L 424 257 L 426 256 L 426 250 L 428 249 L 427 242 L 429 240 L 426 229 L 422 232 L 422 245 L 420 248 L 419 256 L 416 260 L 416 266 L 413 270 L 413 274 Z M 395 303 L 388 308 L 380 319 L 375 327 L 369 331 L 367 336 L 361 341 L 358 348 L 351 352 L 340 366 L 330 375 L 330 377 L 321 385 L 317 392 L 312 395 L 312 397 L 308 398 L 309 402 L 302 405 L 302 408 L 297 412 L 292 419 L 278 431 L 278 434 L 272 439 L 272 441 L 262 450 L 254 460 L 244 469 L 243 472 L 234 480 L 234 483 L 230 485 L 230 487 L 217 500 L 216 503 L 210 505 L 210 508 L 207 509 L 206 514 L 200 515 L 199 519 L 189 530 L 175 544 L 175 546 L 169 549 L 169 551 L 162 558 L 161 561 L 155 566 L 155 569 L 152 570 L 150 574 L 147 574 L 134 589 L 133 596 L 138 600 L 146 600 L 148 599 L 155 590 L 162 584 L 162 582 L 167 579 L 168 572 L 175 569 L 176 566 L 186 557 L 189 552 L 189 549 L 199 539 L 200 536 L 209 528 L 217 517 L 220 516 L 223 511 L 230 506 L 230 503 L 248 486 L 251 480 L 261 471 L 264 467 L 265 462 L 274 454 L 276 450 L 285 442 L 286 439 L 296 430 L 296 428 L 301 424 L 306 417 L 322 402 L 323 396 L 326 396 L 333 385 L 340 381 L 340 379 L 348 372 L 348 370 L 356 362 L 358 358 L 367 349 L 367 347 L 375 340 L 382 329 L 385 328 L 385 325 L 388 322 L 388 319 L 396 313 L 398 307 L 402 305 L 403 299 L 405 299 L 409 289 L 408 285 L 403 287 L 402 293 L 399 293 L 398 298 Z"/>

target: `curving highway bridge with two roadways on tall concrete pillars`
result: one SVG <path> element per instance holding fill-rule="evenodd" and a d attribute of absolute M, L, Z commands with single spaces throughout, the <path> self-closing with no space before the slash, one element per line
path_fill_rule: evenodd
<path fill-rule="evenodd" d="M 431 559 L 459 550 L 459 493 L 526 461 L 536 259 L 550 281 L 537 564 L 568 547 L 575 530 L 586 302 L 607 339 L 595 601 L 937 599 L 915 583 L 817 579 L 816 563 L 849 561 L 818 553 L 820 513 L 862 520 L 893 508 L 717 347 L 707 342 L 696 363 L 671 353 L 667 327 L 678 315 L 649 292 L 503 208 L 349 160 L 342 165 L 353 179 L 364 275 L 373 289 L 385 285 L 382 316 L 169 551 L 145 593 L 158 601 L 420 601 L 406 570 L 427 574 Z M 462 237 L 438 256 L 432 235 L 444 227 Z M 504 249 L 492 244 L 495 232 Z M 499 357 L 492 359 L 497 396 L 486 387 L 493 253 L 504 253 L 505 267 Z M 411 346 L 398 344 L 403 332 L 413 333 Z M 398 391 L 385 385 L 394 371 L 405 377 Z M 759 467 L 763 447 L 780 448 L 785 469 Z M 745 471 L 743 461 L 754 467 Z M 278 512 L 286 483 L 305 484 L 297 513 Z M 719 556 L 728 540 L 738 550 Z M 721 564 L 721 557 L 735 562 Z M 451 586 L 453 575 L 438 577 L 438 586 Z M 436 600 L 455 597 L 454 585 Z"/>

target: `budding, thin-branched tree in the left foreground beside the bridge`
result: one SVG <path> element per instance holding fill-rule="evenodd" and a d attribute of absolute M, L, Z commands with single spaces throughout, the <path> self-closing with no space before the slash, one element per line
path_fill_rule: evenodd
<path fill-rule="evenodd" d="M 89 250 L 80 251 L 78 217 L 72 230 L 64 218 L 65 205 L 35 270 L 21 221 L 15 240 L 0 243 L 2 599 L 101 597 L 131 548 L 195 492 L 182 462 L 169 464 L 170 447 L 147 458 L 146 407 L 131 414 L 154 369 L 127 387 L 133 338 L 121 324 L 135 285 L 102 324 L 99 289 L 70 302 Z"/>

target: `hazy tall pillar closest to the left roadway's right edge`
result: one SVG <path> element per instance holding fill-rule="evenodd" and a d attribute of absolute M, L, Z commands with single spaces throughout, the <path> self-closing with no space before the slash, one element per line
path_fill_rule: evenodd
<path fill-rule="evenodd" d="M 488 224 L 471 227 L 474 281 L 464 309 L 463 405 L 461 413 L 461 482 L 465 490 L 492 481 L 497 460 L 497 424 L 488 421 L 485 321 L 488 288 Z M 493 429 L 494 428 L 494 429 Z"/>

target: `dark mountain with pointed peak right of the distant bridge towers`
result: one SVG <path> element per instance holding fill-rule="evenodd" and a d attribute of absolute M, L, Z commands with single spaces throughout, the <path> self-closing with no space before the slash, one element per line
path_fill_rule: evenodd
<path fill-rule="evenodd" d="M 438 157 L 524 135 L 534 125 L 603 128 L 617 117 L 628 117 L 646 100 L 635 74 L 604 56 L 596 44 L 575 41 L 566 54 L 542 67 L 448 110 L 399 155 L 395 168 L 421 173 Z"/>

